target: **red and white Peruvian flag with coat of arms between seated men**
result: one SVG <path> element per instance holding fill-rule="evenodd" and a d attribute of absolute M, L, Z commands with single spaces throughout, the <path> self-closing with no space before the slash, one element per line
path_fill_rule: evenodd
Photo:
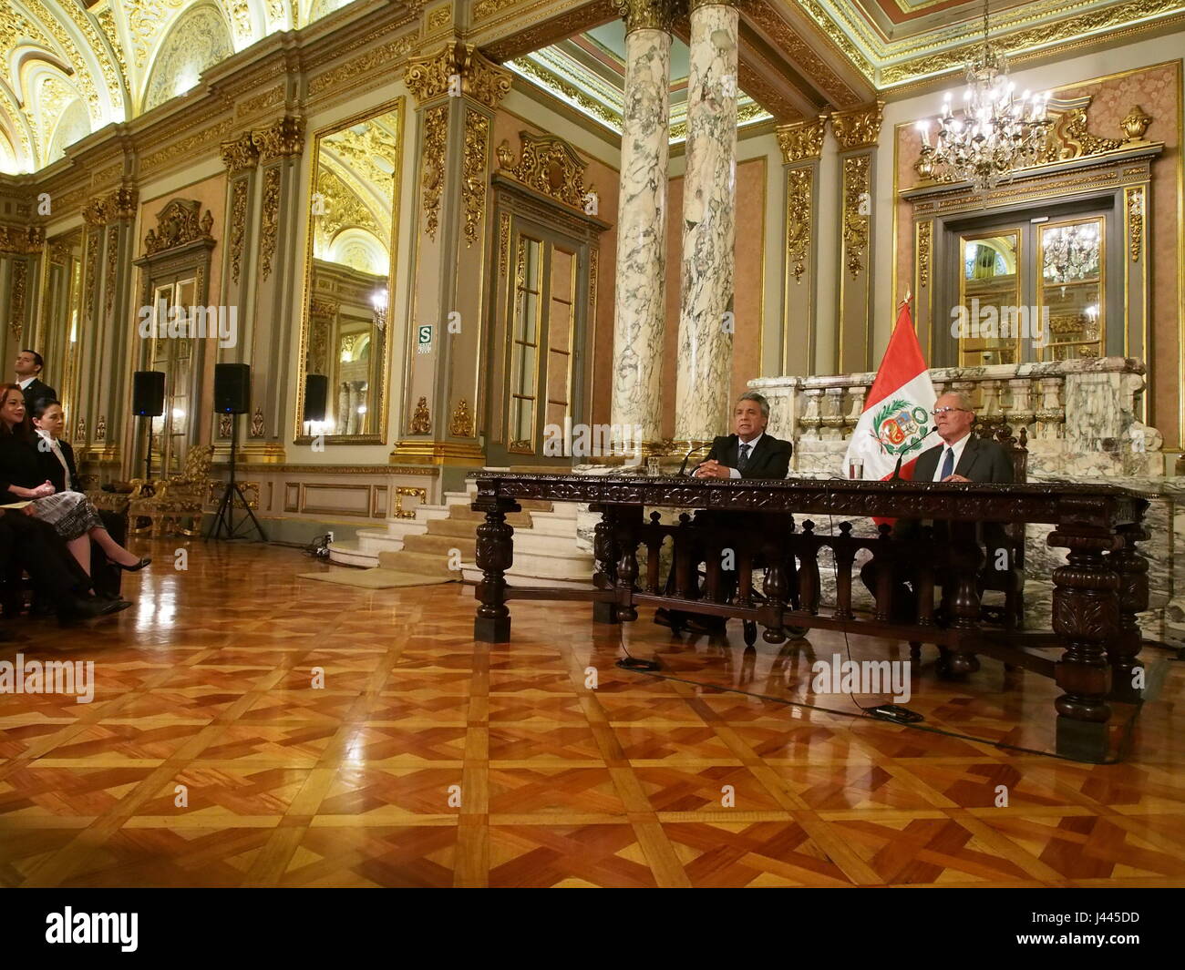
<path fill-rule="evenodd" d="M 861 477 L 890 478 L 899 460 L 901 477 L 912 478 L 917 456 L 934 444 L 929 437 L 934 433 L 930 411 L 935 400 L 905 297 L 876 380 L 864 399 L 864 412 L 847 444 L 845 471 L 853 458 L 860 458 Z"/>

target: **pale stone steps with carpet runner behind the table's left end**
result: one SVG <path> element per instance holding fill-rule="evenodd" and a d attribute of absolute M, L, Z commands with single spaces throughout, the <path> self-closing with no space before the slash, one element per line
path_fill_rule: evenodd
<path fill-rule="evenodd" d="M 469 508 L 475 488 L 444 493 L 444 505 L 422 505 L 415 519 L 390 519 L 383 529 L 360 529 L 354 542 L 329 545 L 329 560 L 351 566 L 383 566 L 417 576 L 462 578 L 476 583 L 478 526 L 485 515 Z M 514 527 L 513 584 L 591 587 L 592 557 L 577 546 L 576 506 L 524 500 L 521 512 L 506 516 Z M 460 552 L 460 577 L 449 568 Z"/>

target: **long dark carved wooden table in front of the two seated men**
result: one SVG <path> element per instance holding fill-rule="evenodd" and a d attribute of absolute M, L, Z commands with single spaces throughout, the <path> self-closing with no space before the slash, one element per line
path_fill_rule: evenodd
<path fill-rule="evenodd" d="M 976 668 L 976 654 L 1053 677 L 1062 689 L 1057 709 L 1057 751 L 1098 762 L 1107 757 L 1108 699 L 1138 701 L 1133 670 L 1140 667 L 1136 614 L 1147 609 L 1147 563 L 1136 542 L 1148 534 L 1142 520 L 1147 501 L 1110 486 L 978 484 L 930 482 L 851 482 L 840 480 L 702 480 L 581 475 L 489 474 L 476 480 L 473 508 L 486 514 L 478 527 L 480 602 L 474 638 L 510 640 L 510 599 L 581 599 L 594 604 L 594 621 L 638 618 L 639 604 L 652 604 L 764 627 L 769 643 L 787 638 L 787 628 L 844 630 L 892 640 L 935 643 L 949 651 L 954 669 Z M 601 513 L 594 555 L 595 590 L 518 587 L 506 584 L 513 563 L 514 529 L 506 514 L 519 499 L 588 502 Z M 643 518 L 646 507 L 703 509 L 680 515 L 678 525 Z M 815 534 L 815 523 L 794 516 L 828 516 L 833 534 Z M 834 516 L 934 520 L 947 525 L 942 541 L 922 529 L 909 542 L 895 541 L 888 527 L 870 538 L 852 535 Z M 1066 565 L 1053 570 L 1051 631 L 992 630 L 981 622 L 978 578 L 984 560 L 979 522 L 1043 522 L 1055 526 L 1050 546 L 1069 550 Z M 672 586 L 659 576 L 659 551 L 673 541 Z M 638 550 L 645 546 L 646 574 L 639 576 Z M 819 609 L 819 552 L 827 548 L 838 568 L 835 608 Z M 893 622 L 891 591 L 878 590 L 871 617 L 852 610 L 852 564 L 859 550 L 873 560 L 908 565 L 916 577 L 914 622 Z M 722 582 L 720 563 L 732 553 L 735 586 Z M 704 565 L 700 586 L 698 568 Z M 764 571 L 763 596 L 754 592 L 754 572 Z M 794 589 L 790 589 L 790 584 Z M 936 586 L 947 590 L 948 622 L 939 622 Z M 1061 647 L 1058 661 L 1029 647 Z"/>

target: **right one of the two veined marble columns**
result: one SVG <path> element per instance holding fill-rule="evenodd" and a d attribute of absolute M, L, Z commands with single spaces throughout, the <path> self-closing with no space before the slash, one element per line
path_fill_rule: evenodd
<path fill-rule="evenodd" d="M 732 381 L 737 8 L 691 0 L 675 443 L 726 425 Z"/>

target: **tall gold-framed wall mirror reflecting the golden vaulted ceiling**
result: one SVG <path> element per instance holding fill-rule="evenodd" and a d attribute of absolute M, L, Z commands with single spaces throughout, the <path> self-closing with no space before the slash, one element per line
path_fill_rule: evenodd
<path fill-rule="evenodd" d="M 402 98 L 316 133 L 297 444 L 383 442 L 402 152 Z M 306 420 L 316 411 L 306 387 L 315 385 L 326 388 L 325 416 Z"/>

